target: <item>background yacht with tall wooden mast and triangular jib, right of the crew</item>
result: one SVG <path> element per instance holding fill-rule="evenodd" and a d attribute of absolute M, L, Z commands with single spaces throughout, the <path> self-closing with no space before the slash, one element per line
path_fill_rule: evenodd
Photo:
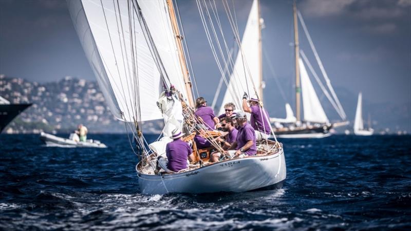
<path fill-rule="evenodd" d="M 342 108 L 340 101 L 338 100 L 337 95 L 335 94 L 330 80 L 328 79 L 327 73 L 322 65 L 319 55 L 316 52 L 314 44 L 312 43 L 311 36 L 308 33 L 307 27 L 304 23 L 303 17 L 300 12 L 297 12 L 296 4 L 293 4 L 293 18 L 294 18 L 294 51 L 295 51 L 295 111 L 296 117 L 294 118 L 291 107 L 289 104 L 286 104 L 287 118 L 286 119 L 277 119 L 271 118 L 271 122 L 275 127 L 275 134 L 279 138 L 324 138 L 331 135 L 329 130 L 332 127 L 344 126 L 347 125 L 346 115 L 344 109 Z M 305 53 L 300 50 L 298 43 L 298 20 L 304 29 L 304 32 L 307 36 L 308 42 L 311 46 L 311 49 L 315 55 L 316 61 L 320 66 L 324 79 L 327 83 L 328 90 L 322 84 L 314 69 L 312 68 L 310 62 L 308 61 Z M 303 58 L 301 58 L 300 57 Z M 320 103 L 319 98 L 312 86 L 310 81 L 307 69 L 305 64 L 309 67 L 309 70 L 315 77 L 317 83 L 319 83 L 324 94 L 340 115 L 343 122 L 339 123 L 330 123 L 327 118 L 327 115 Z M 300 97 L 301 94 L 301 97 Z M 301 115 L 301 101 L 303 99 L 303 112 L 304 119 Z"/>

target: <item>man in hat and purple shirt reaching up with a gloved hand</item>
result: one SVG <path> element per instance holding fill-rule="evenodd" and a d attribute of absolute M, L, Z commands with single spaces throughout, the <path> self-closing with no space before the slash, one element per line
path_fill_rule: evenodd
<path fill-rule="evenodd" d="M 257 141 L 267 140 L 271 133 L 271 125 L 268 121 L 269 115 L 266 109 L 261 110 L 257 97 L 252 97 L 247 105 L 248 95 L 244 92 L 242 96 L 242 110 L 251 113 L 250 124 L 255 130 Z M 265 113 L 265 115 L 263 114 Z"/>

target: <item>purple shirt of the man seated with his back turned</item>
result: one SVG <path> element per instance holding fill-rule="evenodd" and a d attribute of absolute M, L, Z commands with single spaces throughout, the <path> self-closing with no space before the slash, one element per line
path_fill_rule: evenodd
<path fill-rule="evenodd" d="M 191 147 L 188 143 L 177 139 L 165 146 L 165 153 L 169 163 L 167 168 L 172 171 L 179 171 L 187 167 L 187 160 L 191 154 Z"/>

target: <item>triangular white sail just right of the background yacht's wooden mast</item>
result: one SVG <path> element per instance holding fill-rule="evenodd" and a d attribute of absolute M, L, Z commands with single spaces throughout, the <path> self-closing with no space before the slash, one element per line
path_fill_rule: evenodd
<path fill-rule="evenodd" d="M 321 106 L 320 100 L 311 84 L 303 60 L 299 59 L 301 91 L 303 98 L 304 120 L 315 123 L 328 123 L 327 115 Z"/>

